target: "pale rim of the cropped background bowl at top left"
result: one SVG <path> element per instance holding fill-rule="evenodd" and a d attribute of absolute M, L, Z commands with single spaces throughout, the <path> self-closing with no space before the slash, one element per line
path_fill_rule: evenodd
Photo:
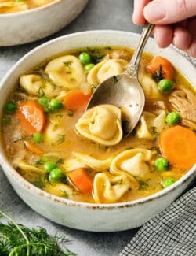
<path fill-rule="evenodd" d="M 38 6 L 32 9 L 26 9 L 24 11 L 20 11 L 20 12 L 13 12 L 13 13 L 0 13 L 0 20 L 1 18 L 10 18 L 10 17 L 17 17 L 17 16 L 24 16 L 27 13 L 31 14 L 31 13 L 35 13 L 35 12 L 42 12 L 42 9 L 48 9 L 49 7 L 53 7 L 55 6 L 58 2 L 63 2 L 64 0 L 53 0 L 52 2 L 49 2 L 43 6 Z"/>

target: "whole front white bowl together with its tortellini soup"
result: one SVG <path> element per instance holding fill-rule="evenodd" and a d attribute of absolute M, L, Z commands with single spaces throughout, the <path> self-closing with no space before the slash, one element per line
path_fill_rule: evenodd
<path fill-rule="evenodd" d="M 2 169 L 24 202 L 56 223 L 136 228 L 194 180 L 195 68 L 176 50 L 147 43 L 139 72 L 145 107 L 129 137 L 124 109 L 85 111 L 99 83 L 126 69 L 139 37 L 92 31 L 53 39 L 2 80 Z"/>

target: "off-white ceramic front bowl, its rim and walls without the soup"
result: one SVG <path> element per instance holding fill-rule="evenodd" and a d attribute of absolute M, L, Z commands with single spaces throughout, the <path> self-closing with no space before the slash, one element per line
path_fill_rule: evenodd
<path fill-rule="evenodd" d="M 85 46 L 128 46 L 135 48 L 140 35 L 117 31 L 80 32 L 53 39 L 38 46 L 26 54 L 24 58 L 13 66 L 0 84 L 0 112 L 8 95 L 13 91 L 19 76 L 29 71 L 45 59 L 67 50 L 74 50 Z M 181 56 L 172 48 L 159 49 L 153 39 L 149 39 L 146 51 L 152 54 L 162 54 L 172 61 L 180 72 L 195 83 L 195 68 L 187 58 Z M 186 67 L 186 69 L 184 69 Z M 195 86 L 195 85 L 194 85 Z M 0 117 L 1 118 L 1 117 Z M 55 221 L 71 228 L 78 228 L 96 232 L 114 232 L 136 228 L 149 221 L 151 217 L 163 210 L 174 201 L 194 179 L 196 165 L 175 184 L 158 193 L 141 198 L 133 202 L 114 204 L 89 204 L 73 202 L 60 198 L 34 187 L 24 180 L 6 159 L 5 152 L 0 143 L 0 162 L 5 175 L 13 185 L 16 193 L 31 206 L 32 209 Z"/>

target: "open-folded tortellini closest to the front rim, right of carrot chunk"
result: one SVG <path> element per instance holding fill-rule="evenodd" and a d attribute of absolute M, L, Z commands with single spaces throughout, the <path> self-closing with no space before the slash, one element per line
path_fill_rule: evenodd
<path fill-rule="evenodd" d="M 93 182 L 95 202 L 117 202 L 132 187 L 125 175 L 109 178 L 105 173 L 97 173 Z"/>

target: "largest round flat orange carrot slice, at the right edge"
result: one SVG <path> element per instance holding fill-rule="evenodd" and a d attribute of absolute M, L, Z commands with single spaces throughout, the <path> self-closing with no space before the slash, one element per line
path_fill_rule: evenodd
<path fill-rule="evenodd" d="M 188 128 L 176 125 L 165 129 L 159 146 L 163 156 L 180 169 L 190 169 L 196 163 L 196 135 Z"/>

